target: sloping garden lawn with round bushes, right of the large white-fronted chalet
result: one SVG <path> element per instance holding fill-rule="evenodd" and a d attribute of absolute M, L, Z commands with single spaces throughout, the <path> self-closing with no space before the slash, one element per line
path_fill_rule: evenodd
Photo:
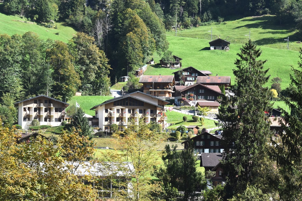
<path fill-rule="evenodd" d="M 201 125 L 200 121 L 198 121 L 198 122 L 192 121 L 193 115 L 185 115 L 185 114 L 182 114 L 179 112 L 169 111 L 169 110 L 166 112 L 166 115 L 168 117 L 167 122 L 173 124 L 172 126 L 169 126 L 168 129 L 173 129 L 173 128 L 176 128 L 181 125 L 184 125 L 184 126 L 197 125 L 197 126 L 200 126 L 203 128 L 213 128 L 213 127 L 215 127 L 215 122 L 217 122 L 214 120 L 204 118 L 204 125 Z M 183 116 L 187 116 L 188 121 L 184 122 L 182 120 Z"/>

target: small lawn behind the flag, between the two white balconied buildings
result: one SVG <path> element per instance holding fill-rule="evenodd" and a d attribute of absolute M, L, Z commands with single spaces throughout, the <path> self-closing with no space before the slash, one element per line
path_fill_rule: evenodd
<path fill-rule="evenodd" d="M 95 105 L 99 105 L 106 100 L 113 99 L 112 96 L 73 96 L 68 102 L 70 105 L 75 105 L 76 102 L 79 103 L 80 107 L 85 111 L 86 114 L 94 116 L 95 111 L 90 110 L 90 108 Z"/>

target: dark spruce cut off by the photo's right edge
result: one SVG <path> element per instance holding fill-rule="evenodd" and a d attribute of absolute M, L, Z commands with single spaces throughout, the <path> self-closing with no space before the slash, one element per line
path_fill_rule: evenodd
<path fill-rule="evenodd" d="M 282 200 L 301 200 L 302 194 L 302 49 L 300 48 L 298 68 L 292 68 L 291 84 L 288 97 L 282 100 L 290 111 L 279 108 L 282 112 L 279 139 L 273 141 L 273 152 L 284 183 L 279 190 Z"/>

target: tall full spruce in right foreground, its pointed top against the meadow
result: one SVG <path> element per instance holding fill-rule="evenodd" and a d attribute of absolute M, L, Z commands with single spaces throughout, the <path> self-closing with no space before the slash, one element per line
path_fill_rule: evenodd
<path fill-rule="evenodd" d="M 268 69 L 263 67 L 266 61 L 257 60 L 262 51 L 251 40 L 240 50 L 233 69 L 235 96 L 223 96 L 218 114 L 225 150 L 225 198 L 242 193 L 247 184 L 257 185 L 265 177 L 259 169 L 267 159 L 265 147 L 271 134 L 265 115 L 271 108 L 271 92 L 263 87 L 269 79 Z"/>

